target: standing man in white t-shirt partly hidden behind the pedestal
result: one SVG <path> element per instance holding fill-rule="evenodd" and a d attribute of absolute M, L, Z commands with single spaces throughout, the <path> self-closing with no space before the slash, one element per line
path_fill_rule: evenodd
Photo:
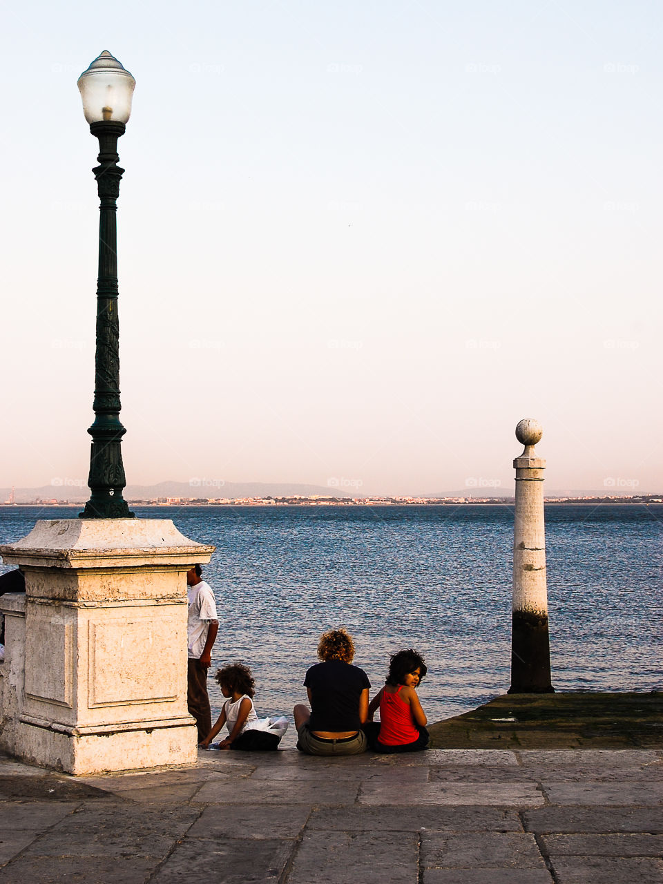
<path fill-rule="evenodd" d="M 189 713 L 198 728 L 198 743 L 210 733 L 212 717 L 207 694 L 207 670 L 212 665 L 211 651 L 218 632 L 217 603 L 210 584 L 202 579 L 202 568 L 194 565 L 187 571 L 188 610 L 188 692 Z"/>

